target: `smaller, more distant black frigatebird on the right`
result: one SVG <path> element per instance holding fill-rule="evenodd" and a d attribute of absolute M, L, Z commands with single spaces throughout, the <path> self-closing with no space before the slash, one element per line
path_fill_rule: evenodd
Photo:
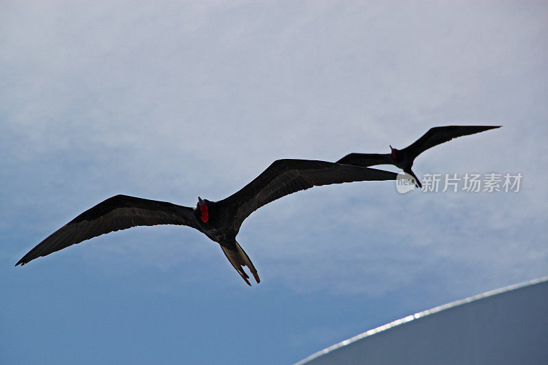
<path fill-rule="evenodd" d="M 395 149 L 390 146 L 390 153 L 350 153 L 338 160 L 337 163 L 362 167 L 384 164 L 395 165 L 411 175 L 415 180 L 415 185 L 422 188 L 421 181 L 411 170 L 418 155 L 453 138 L 500 127 L 500 125 L 446 125 L 445 127 L 433 127 L 404 149 Z"/>

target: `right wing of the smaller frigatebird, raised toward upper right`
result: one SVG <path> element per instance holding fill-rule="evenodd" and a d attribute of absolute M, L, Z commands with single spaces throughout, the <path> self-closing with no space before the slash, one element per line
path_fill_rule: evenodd
<path fill-rule="evenodd" d="M 500 125 L 447 125 L 445 127 L 434 127 L 430 128 L 421 138 L 403 149 L 403 151 L 411 153 L 413 158 L 416 158 L 416 156 L 427 149 L 452 140 L 453 138 L 500 127 Z"/>

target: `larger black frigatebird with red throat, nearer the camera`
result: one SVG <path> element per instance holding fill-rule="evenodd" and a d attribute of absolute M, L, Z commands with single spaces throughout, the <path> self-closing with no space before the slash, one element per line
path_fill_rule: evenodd
<path fill-rule="evenodd" d="M 249 283 L 242 266 L 260 282 L 249 256 L 236 242 L 242 222 L 265 204 L 299 190 L 351 181 L 395 180 L 397 174 L 375 168 L 316 160 L 276 160 L 256 179 L 221 201 L 198 197 L 195 207 L 116 195 L 86 210 L 55 231 L 15 264 L 24 265 L 72 244 L 119 229 L 144 225 L 187 225 L 221 245 L 229 262 Z"/>

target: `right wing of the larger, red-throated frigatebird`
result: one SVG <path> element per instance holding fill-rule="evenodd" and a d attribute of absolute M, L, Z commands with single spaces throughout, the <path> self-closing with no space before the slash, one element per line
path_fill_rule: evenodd
<path fill-rule="evenodd" d="M 315 160 L 277 160 L 240 191 L 218 203 L 238 231 L 255 210 L 293 192 L 351 181 L 395 180 L 396 173 Z"/>

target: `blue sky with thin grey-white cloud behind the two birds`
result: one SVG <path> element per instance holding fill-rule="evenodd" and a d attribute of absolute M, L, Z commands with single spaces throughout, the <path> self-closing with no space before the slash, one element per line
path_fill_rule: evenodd
<path fill-rule="evenodd" d="M 0 363 L 291 364 L 548 273 L 545 1 L 0 6 Z M 280 158 L 388 153 L 438 125 L 503 127 L 416 175 L 520 173 L 519 192 L 292 194 L 238 234 L 251 288 L 188 227 L 14 267 L 115 194 L 193 206 Z"/>

